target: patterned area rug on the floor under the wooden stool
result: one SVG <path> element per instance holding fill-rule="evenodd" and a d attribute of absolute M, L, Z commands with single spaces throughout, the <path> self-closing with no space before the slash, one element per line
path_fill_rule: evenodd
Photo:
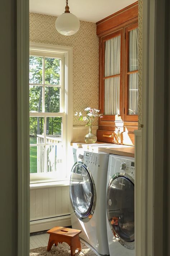
<path fill-rule="evenodd" d="M 47 247 L 39 247 L 36 249 L 31 249 L 30 256 L 70 256 L 70 246 L 67 243 L 58 244 L 57 246 L 52 246 L 51 251 L 47 252 Z M 75 256 L 96 256 L 91 248 L 88 248 L 86 244 L 81 242 L 81 252 L 76 250 Z"/>

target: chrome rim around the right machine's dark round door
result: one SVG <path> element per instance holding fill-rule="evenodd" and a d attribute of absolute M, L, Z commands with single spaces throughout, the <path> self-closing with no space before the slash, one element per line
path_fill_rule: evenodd
<path fill-rule="evenodd" d="M 113 180 L 115 180 L 116 178 L 118 177 L 124 177 L 124 178 L 127 178 L 131 181 L 131 183 L 134 185 L 134 179 L 128 175 L 126 172 L 117 172 L 115 173 L 111 178 L 110 178 L 110 181 L 109 181 L 109 184 L 107 186 L 107 193 L 106 193 L 106 202 L 107 202 L 107 205 L 106 205 L 106 212 L 107 212 L 107 220 L 109 222 L 109 226 L 110 226 L 110 229 L 112 230 L 112 233 L 114 235 L 114 230 L 113 230 L 113 227 L 112 225 L 110 224 L 110 221 L 109 221 L 109 216 L 108 216 L 108 193 L 109 193 L 109 187 L 110 187 L 110 184 L 113 182 Z M 130 249 L 130 250 L 134 250 L 134 241 L 132 242 L 127 242 L 127 241 L 124 241 L 121 237 L 119 237 L 119 235 L 116 233 L 116 237 L 117 241 L 119 243 L 121 243 L 124 247 Z"/>

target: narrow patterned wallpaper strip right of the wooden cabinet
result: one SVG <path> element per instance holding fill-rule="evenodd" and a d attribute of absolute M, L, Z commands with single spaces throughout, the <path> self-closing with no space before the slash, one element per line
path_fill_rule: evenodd
<path fill-rule="evenodd" d="M 142 122 L 142 23 L 143 0 L 138 0 L 138 129 Z"/>

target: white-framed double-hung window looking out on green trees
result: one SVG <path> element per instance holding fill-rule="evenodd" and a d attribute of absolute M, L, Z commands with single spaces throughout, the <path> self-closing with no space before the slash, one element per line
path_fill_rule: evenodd
<path fill-rule="evenodd" d="M 65 53 L 31 49 L 29 57 L 30 180 L 67 176 Z"/>

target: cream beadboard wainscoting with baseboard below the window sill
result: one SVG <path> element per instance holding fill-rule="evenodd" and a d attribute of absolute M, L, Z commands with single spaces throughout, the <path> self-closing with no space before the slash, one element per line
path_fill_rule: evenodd
<path fill-rule="evenodd" d="M 30 233 L 70 226 L 69 186 L 30 188 Z"/>

